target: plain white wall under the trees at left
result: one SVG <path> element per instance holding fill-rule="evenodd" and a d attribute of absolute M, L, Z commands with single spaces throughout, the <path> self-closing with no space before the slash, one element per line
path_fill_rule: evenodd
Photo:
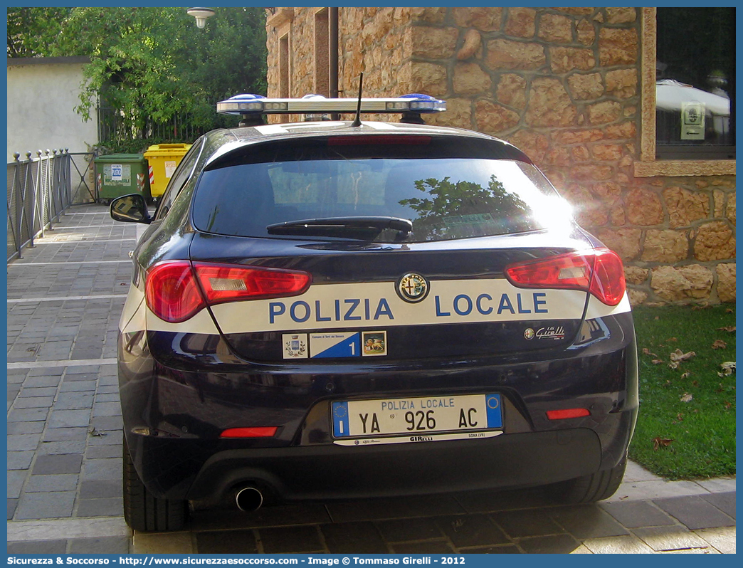
<path fill-rule="evenodd" d="M 87 57 L 7 59 L 7 160 L 13 152 L 68 148 L 86 152 L 98 142 L 97 114 L 83 122 L 80 104 L 82 65 Z"/>

